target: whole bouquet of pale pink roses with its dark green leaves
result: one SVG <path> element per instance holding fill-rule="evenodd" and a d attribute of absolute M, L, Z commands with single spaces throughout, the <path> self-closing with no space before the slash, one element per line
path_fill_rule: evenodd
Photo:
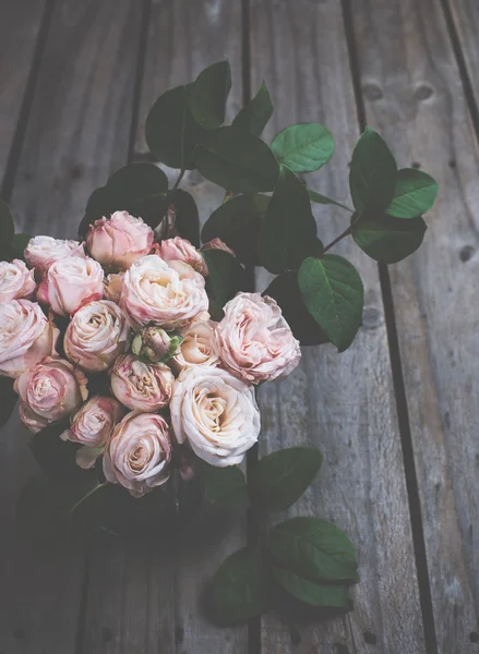
<path fill-rule="evenodd" d="M 19 397 L 36 460 L 61 488 L 75 487 L 67 516 L 100 488 L 155 497 L 168 480 L 178 489 L 195 475 L 213 502 L 244 506 L 253 495 L 262 510 L 289 507 L 321 453 L 274 452 L 247 482 L 236 465 L 260 436 L 255 386 L 291 373 L 300 342 L 351 344 L 363 289 L 356 268 L 328 253 L 336 242 L 351 235 L 380 263 L 422 242 L 421 215 L 436 184 L 422 171 L 397 170 L 375 132 L 367 130 L 354 152 L 348 209 L 298 177 L 331 158 L 330 132 L 291 125 L 267 146 L 260 134 L 273 107 L 264 84 L 221 126 L 229 87 L 229 64 L 219 62 L 157 100 L 146 141 L 155 159 L 180 170 L 177 182 L 169 189 L 153 164 L 122 168 L 92 194 L 79 241 L 14 234 L 0 205 L 9 259 L 0 263 L 2 420 Z M 227 191 L 203 227 L 203 246 L 195 202 L 179 189 L 189 169 Z M 351 211 L 328 245 L 311 202 Z M 263 294 L 250 283 L 259 265 L 276 275 Z M 227 559 L 213 605 L 220 622 L 248 619 L 268 606 L 275 584 L 303 603 L 348 609 L 356 581 L 347 536 L 296 518 Z"/>

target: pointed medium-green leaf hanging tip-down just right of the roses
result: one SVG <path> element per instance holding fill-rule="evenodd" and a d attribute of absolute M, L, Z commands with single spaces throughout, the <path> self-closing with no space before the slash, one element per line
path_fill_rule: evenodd
<path fill-rule="evenodd" d="M 325 254 L 307 258 L 299 269 L 298 283 L 308 311 L 343 352 L 362 324 L 364 290 L 352 264 L 342 256 Z"/>

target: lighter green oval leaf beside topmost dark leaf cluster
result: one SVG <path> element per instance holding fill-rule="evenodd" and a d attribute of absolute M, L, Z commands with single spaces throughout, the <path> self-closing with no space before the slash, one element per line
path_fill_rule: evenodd
<path fill-rule="evenodd" d="M 276 134 L 271 144 L 279 164 L 292 172 L 312 172 L 334 154 L 334 138 L 324 125 L 298 123 Z"/>

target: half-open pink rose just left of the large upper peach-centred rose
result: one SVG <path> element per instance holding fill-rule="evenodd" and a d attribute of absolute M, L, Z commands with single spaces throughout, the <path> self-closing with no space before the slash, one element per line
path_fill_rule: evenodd
<path fill-rule="evenodd" d="M 104 271 L 93 258 L 69 256 L 50 266 L 38 287 L 37 298 L 56 314 L 68 316 L 94 300 L 101 300 Z"/>

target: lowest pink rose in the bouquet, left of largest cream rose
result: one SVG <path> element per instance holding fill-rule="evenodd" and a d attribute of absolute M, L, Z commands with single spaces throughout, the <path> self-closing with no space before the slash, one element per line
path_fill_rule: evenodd
<path fill-rule="evenodd" d="M 133 497 L 168 481 L 172 448 L 166 420 L 157 413 L 128 413 L 115 427 L 104 455 L 104 473 Z"/>

